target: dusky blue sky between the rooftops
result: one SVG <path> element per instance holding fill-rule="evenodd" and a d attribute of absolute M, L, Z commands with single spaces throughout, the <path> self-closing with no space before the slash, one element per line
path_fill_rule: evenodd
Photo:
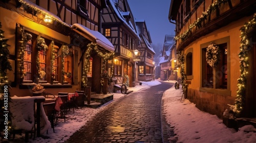
<path fill-rule="evenodd" d="M 165 35 L 175 35 L 169 22 L 170 0 L 127 0 L 136 19 L 144 19 L 153 44 L 163 43 Z"/>

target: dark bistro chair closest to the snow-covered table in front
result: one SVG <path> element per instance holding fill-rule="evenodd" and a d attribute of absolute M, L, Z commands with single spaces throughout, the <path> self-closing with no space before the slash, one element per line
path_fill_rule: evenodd
<path fill-rule="evenodd" d="M 51 126 L 53 128 L 54 133 L 55 133 L 54 131 L 55 104 L 56 104 L 55 102 L 42 104 L 42 106 L 44 107 L 45 113 L 48 116 L 48 120 L 51 122 Z M 48 130 L 46 133 L 48 134 Z"/>

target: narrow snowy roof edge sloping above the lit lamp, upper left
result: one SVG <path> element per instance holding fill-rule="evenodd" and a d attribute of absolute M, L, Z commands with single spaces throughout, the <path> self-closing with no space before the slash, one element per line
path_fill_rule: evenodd
<path fill-rule="evenodd" d="M 50 11 L 47 11 L 46 9 L 44 9 L 42 7 L 39 7 L 38 5 L 30 2 L 29 0 L 18 0 L 18 2 L 24 4 L 24 5 L 28 6 L 28 7 L 34 8 L 36 10 L 39 10 L 40 12 L 49 15 L 51 18 L 53 18 L 54 20 L 62 23 L 63 25 L 70 27 L 70 25 L 68 25 L 67 23 L 63 22 L 57 15 L 51 13 Z"/>

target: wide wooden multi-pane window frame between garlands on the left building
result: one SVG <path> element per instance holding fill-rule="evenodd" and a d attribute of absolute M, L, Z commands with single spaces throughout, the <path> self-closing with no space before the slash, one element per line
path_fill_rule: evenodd
<path fill-rule="evenodd" d="M 70 88 L 70 87 L 72 87 L 72 85 L 73 85 L 73 82 L 71 82 L 70 84 L 56 84 L 56 83 L 59 83 L 58 81 L 56 81 L 56 82 L 53 82 L 54 80 L 52 79 L 52 73 L 50 73 L 50 71 L 51 71 L 51 67 L 52 67 L 52 62 L 51 62 L 51 58 L 52 58 L 52 48 L 54 48 L 55 49 L 55 47 L 53 46 L 51 46 L 51 41 L 53 40 L 54 42 L 55 42 L 55 44 L 54 45 L 58 45 L 59 47 L 61 46 L 61 45 L 63 45 L 63 44 L 65 44 L 65 43 L 63 43 L 63 42 L 61 42 L 61 41 L 58 41 L 58 40 L 55 40 L 55 39 L 52 39 L 51 37 L 49 37 L 48 35 L 41 35 L 40 33 L 38 33 L 38 32 L 35 32 L 35 31 L 33 31 L 33 30 L 31 30 L 31 29 L 29 29 L 29 28 L 27 28 L 27 27 L 23 27 L 23 26 L 18 26 L 17 28 L 22 28 L 22 29 L 24 29 L 24 33 L 28 33 L 28 34 L 31 34 L 32 35 L 32 43 L 29 43 L 29 45 L 31 45 L 31 51 L 30 50 L 26 50 L 26 47 L 25 47 L 25 52 L 26 51 L 28 51 L 28 52 L 31 52 L 32 54 L 31 54 L 31 62 L 29 62 L 30 64 L 31 64 L 31 72 L 30 72 L 30 74 L 31 74 L 31 78 L 30 78 L 30 80 L 26 80 L 26 79 L 24 79 L 24 78 L 21 78 L 20 76 L 19 76 L 19 73 L 22 73 L 21 72 L 21 70 L 22 70 L 22 68 L 16 68 L 15 69 L 15 77 L 17 78 L 17 80 L 19 81 L 19 88 L 20 89 L 27 89 L 27 88 L 30 88 L 30 86 L 34 86 L 34 84 L 42 84 L 42 85 L 44 85 L 44 87 L 45 88 L 52 88 L 52 87 L 56 87 L 56 88 L 60 88 L 60 86 L 65 86 L 65 87 L 68 87 L 68 88 Z M 19 35 L 19 34 L 18 34 Z M 45 39 L 45 42 L 46 42 L 46 44 L 48 45 L 48 50 L 45 52 L 45 55 L 44 55 L 44 57 L 45 57 L 45 61 L 44 61 L 44 63 L 40 63 L 40 64 L 44 64 L 45 65 L 45 69 L 44 69 L 44 71 L 46 72 L 46 75 L 45 75 L 45 78 L 44 79 L 39 79 L 39 81 L 37 81 L 37 78 L 39 78 L 38 76 L 38 70 L 37 70 L 37 61 L 36 60 L 33 60 L 33 59 L 37 59 L 37 56 L 39 56 L 38 55 L 38 53 L 40 53 L 40 51 L 38 51 L 38 49 L 37 49 L 37 47 L 36 47 L 36 43 L 37 43 L 37 36 L 38 35 L 40 35 L 41 36 L 41 38 L 44 38 Z M 20 36 L 21 36 L 21 34 L 20 34 Z M 19 37 L 19 36 L 18 36 Z M 52 39 L 52 40 L 51 40 Z M 21 39 L 20 38 L 17 38 L 16 39 L 17 41 L 20 41 Z M 27 44 L 27 43 L 26 43 Z M 26 45 L 25 44 L 25 45 Z M 22 46 L 22 45 L 18 45 L 18 47 L 17 47 L 17 49 L 19 49 L 20 48 L 20 46 Z M 26 53 L 24 53 L 24 54 L 26 54 Z M 58 69 L 57 69 L 57 71 L 58 71 L 58 73 L 57 73 L 57 77 L 56 77 L 56 80 L 61 80 L 61 67 L 62 67 L 62 65 L 61 65 L 61 62 L 60 62 L 60 52 L 59 52 L 59 49 L 58 49 L 58 51 L 57 51 L 57 54 L 58 54 L 58 63 L 57 63 L 57 67 L 58 67 Z M 16 55 L 16 58 L 17 59 L 19 59 L 20 58 L 20 54 L 19 53 L 17 53 L 17 55 Z M 39 61 L 40 62 L 40 61 Z M 73 63 L 74 62 L 74 56 L 71 56 L 71 61 L 70 61 L 71 63 Z M 24 66 L 24 65 L 23 65 Z M 74 69 L 74 65 L 72 64 L 71 65 L 71 67 L 70 68 L 72 68 L 72 70 Z M 74 71 L 72 71 L 72 75 L 73 75 L 73 72 Z M 33 76 L 33 75 L 37 75 L 36 77 L 35 76 Z M 72 81 L 73 81 L 73 79 L 72 79 Z M 37 83 L 38 82 L 38 83 Z M 50 83 L 50 84 L 49 84 Z M 61 82 L 60 82 L 61 83 Z"/>

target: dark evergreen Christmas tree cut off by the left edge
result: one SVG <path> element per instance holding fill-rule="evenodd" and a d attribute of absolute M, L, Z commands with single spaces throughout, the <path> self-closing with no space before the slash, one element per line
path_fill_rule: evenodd
<path fill-rule="evenodd" d="M 10 121 L 11 113 L 9 112 L 9 102 L 10 98 L 10 83 L 8 82 L 7 70 L 12 70 L 12 66 L 10 64 L 9 59 L 9 50 L 7 44 L 8 39 L 4 37 L 4 31 L 2 30 L 2 25 L 0 22 L 0 130 L 3 131 L 5 126 L 7 126 L 7 122 Z M 4 116 L 8 112 L 8 121 L 6 121 L 6 116 Z M 10 123 L 8 123 L 8 127 L 10 127 Z M 9 128 L 8 128 L 9 129 Z M 3 134 L 1 133 L 1 137 Z M 1 140 L 0 140 L 1 142 Z"/>

